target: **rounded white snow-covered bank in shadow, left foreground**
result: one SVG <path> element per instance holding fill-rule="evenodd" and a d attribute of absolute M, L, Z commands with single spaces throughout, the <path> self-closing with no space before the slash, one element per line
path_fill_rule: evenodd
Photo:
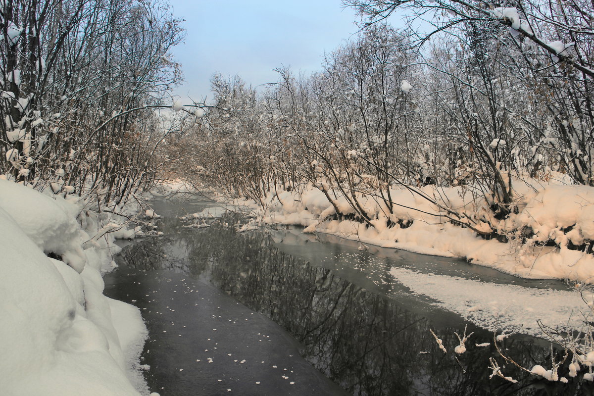
<path fill-rule="evenodd" d="M 139 395 L 140 311 L 103 295 L 118 251 L 100 221 L 61 197 L 0 179 L 0 389 Z M 50 258 L 49 256 L 53 257 Z M 56 259 L 60 258 L 60 259 Z"/>

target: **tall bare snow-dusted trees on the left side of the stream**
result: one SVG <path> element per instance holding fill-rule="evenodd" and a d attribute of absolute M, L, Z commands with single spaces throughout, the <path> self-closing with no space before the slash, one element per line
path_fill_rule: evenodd
<path fill-rule="evenodd" d="M 181 78 L 165 0 L 2 0 L 0 173 L 119 202 L 154 179 Z"/>

